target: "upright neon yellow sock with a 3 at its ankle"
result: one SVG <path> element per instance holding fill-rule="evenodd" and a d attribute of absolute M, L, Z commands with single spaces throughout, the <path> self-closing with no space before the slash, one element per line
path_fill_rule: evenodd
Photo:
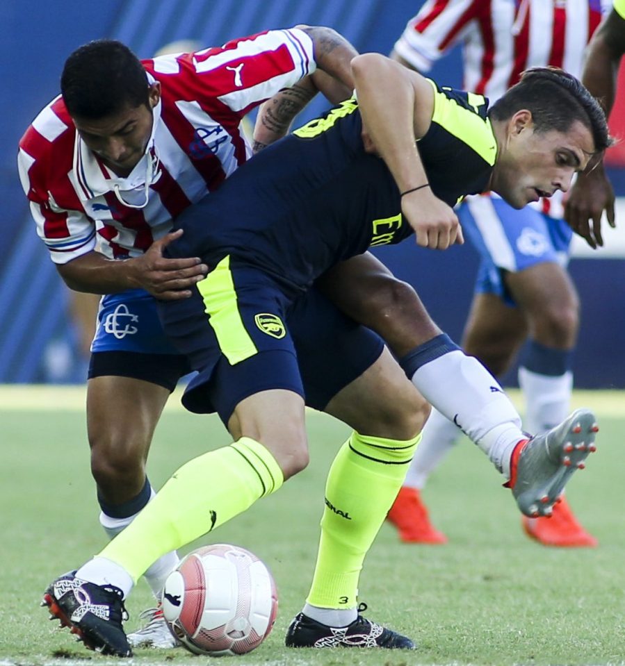
<path fill-rule="evenodd" d="M 313 583 L 307 602 L 320 608 L 357 606 L 362 563 L 384 522 L 416 445 L 352 433 L 334 458 Z"/>

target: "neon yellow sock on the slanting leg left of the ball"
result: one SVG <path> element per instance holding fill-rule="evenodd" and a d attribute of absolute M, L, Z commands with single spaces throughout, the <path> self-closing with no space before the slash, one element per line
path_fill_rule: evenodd
<path fill-rule="evenodd" d="M 280 488 L 284 477 L 262 444 L 241 438 L 186 463 L 100 557 L 136 582 L 161 555 L 188 544 Z"/>

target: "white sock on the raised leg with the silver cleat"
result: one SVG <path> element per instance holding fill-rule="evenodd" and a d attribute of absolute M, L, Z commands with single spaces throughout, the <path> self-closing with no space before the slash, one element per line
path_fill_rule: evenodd
<path fill-rule="evenodd" d="M 460 350 L 449 351 L 419 367 L 412 383 L 478 444 L 499 472 L 509 476 L 512 449 L 526 438 L 521 417 L 476 358 Z"/>

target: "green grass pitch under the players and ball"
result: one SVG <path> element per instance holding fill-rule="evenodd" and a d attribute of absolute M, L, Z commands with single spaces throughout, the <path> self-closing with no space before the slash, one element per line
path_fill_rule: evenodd
<path fill-rule="evenodd" d="M 514 396 L 516 398 L 516 395 Z M 425 489 L 446 546 L 400 544 L 384 524 L 368 555 L 360 598 L 368 615 L 414 638 L 414 653 L 287 650 L 284 633 L 307 593 L 323 507 L 323 485 L 348 429 L 310 413 L 311 465 L 273 497 L 211 535 L 246 547 L 269 565 L 279 591 L 273 633 L 241 666 L 607 665 L 625 663 L 625 395 L 578 392 L 601 431 L 568 497 L 598 549 L 547 549 L 530 542 L 508 490 L 485 456 L 464 440 Z M 38 608 L 59 574 L 105 542 L 81 388 L 0 388 L 0 666 L 118 664 L 86 651 Z M 149 476 L 156 488 L 181 463 L 228 442 L 216 417 L 182 410 L 174 397 L 156 431 Z M 190 547 L 204 543 L 200 540 Z M 141 581 L 127 606 L 152 605 Z M 138 650 L 133 664 L 205 664 L 186 651 Z"/>

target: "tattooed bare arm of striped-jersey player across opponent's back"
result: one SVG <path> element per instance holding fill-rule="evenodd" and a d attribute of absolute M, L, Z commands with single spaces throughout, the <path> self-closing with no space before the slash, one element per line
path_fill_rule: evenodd
<path fill-rule="evenodd" d="M 307 33 L 313 41 L 317 69 L 292 88 L 281 90 L 263 103 L 254 127 L 254 152 L 286 135 L 295 116 L 317 92 L 335 104 L 350 97 L 354 88 L 350 63 L 358 51 L 350 42 L 332 28 L 295 27 Z"/>

